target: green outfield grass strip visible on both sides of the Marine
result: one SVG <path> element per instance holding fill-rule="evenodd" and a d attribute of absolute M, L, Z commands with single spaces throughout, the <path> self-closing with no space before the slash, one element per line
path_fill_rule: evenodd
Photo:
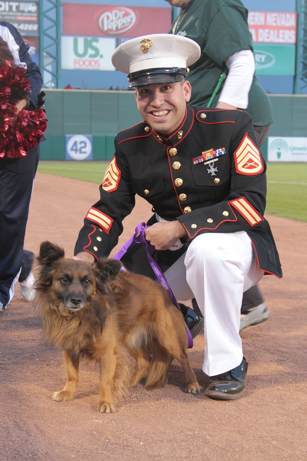
<path fill-rule="evenodd" d="M 108 162 L 42 161 L 41 173 L 101 184 Z M 307 222 L 307 163 L 267 164 L 266 214 Z"/>

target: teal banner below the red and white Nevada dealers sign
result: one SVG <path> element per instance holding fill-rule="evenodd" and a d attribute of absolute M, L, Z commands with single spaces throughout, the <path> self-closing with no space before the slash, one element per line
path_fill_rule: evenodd
<path fill-rule="evenodd" d="M 253 46 L 258 75 L 295 75 L 295 45 Z"/>

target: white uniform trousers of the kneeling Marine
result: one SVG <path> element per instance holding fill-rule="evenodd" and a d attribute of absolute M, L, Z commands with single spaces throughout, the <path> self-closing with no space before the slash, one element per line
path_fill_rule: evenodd
<path fill-rule="evenodd" d="M 203 313 L 203 371 L 214 376 L 238 366 L 243 292 L 263 275 L 246 232 L 195 237 L 164 275 L 176 299 L 196 298 Z"/>

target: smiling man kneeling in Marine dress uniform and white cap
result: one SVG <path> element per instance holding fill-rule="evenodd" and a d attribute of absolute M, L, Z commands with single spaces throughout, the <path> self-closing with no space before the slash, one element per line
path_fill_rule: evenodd
<path fill-rule="evenodd" d="M 145 121 L 116 136 L 75 259 L 108 256 L 135 194 L 151 203 L 155 214 L 145 236 L 155 247 L 152 256 L 174 296 L 195 297 L 203 313 L 205 393 L 232 400 L 243 393 L 248 366 L 239 336 L 243 291 L 264 273 L 282 272 L 263 217 L 266 164 L 249 114 L 186 104 L 185 77 L 199 54 L 191 39 L 167 34 L 126 41 L 113 53 Z M 155 278 L 141 245 L 132 244 L 122 263 Z"/>

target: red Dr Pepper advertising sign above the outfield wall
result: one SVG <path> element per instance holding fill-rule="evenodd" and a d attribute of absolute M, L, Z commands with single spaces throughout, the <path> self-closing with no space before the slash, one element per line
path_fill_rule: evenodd
<path fill-rule="evenodd" d="M 172 24 L 171 8 L 68 2 L 62 6 L 63 35 L 133 38 L 166 34 Z"/>

